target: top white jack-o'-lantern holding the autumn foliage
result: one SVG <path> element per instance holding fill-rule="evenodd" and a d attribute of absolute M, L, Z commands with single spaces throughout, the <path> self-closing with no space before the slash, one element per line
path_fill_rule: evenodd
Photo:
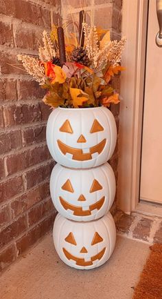
<path fill-rule="evenodd" d="M 90 168 L 113 155 L 117 130 L 105 107 L 56 108 L 47 122 L 47 146 L 56 162 L 70 168 Z"/>

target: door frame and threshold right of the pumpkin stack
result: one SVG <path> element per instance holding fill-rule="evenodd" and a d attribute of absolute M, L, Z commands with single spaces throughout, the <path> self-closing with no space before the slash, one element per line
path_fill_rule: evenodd
<path fill-rule="evenodd" d="M 127 41 L 122 56 L 126 70 L 121 75 L 117 198 L 125 213 L 162 215 L 160 206 L 139 202 L 147 20 L 148 0 L 123 0 L 122 36 Z"/>

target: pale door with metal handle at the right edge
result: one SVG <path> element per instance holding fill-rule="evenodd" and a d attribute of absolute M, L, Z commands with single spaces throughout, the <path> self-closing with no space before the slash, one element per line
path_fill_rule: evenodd
<path fill-rule="evenodd" d="M 140 199 L 162 204 L 162 48 L 155 44 L 158 31 L 156 0 L 150 0 Z"/>

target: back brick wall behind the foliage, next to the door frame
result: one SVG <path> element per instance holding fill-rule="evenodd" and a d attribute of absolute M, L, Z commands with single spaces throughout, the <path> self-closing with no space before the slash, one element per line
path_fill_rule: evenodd
<path fill-rule="evenodd" d="M 86 11 L 86 22 L 90 23 L 90 19 L 94 19 L 94 25 L 109 29 L 111 31 L 111 39 L 121 39 L 122 30 L 122 0 L 61 0 L 62 19 L 71 19 L 78 21 L 80 7 Z M 73 26 L 71 28 L 73 30 Z M 119 93 L 120 80 L 119 76 L 113 79 L 113 86 Z M 115 116 L 117 124 L 117 133 L 119 128 L 119 104 L 111 105 L 111 111 Z M 118 139 L 118 138 L 117 138 Z M 117 183 L 117 164 L 118 164 L 118 142 L 115 147 L 113 157 L 109 161 L 113 167 Z M 116 192 L 117 194 L 117 192 Z M 111 209 L 115 212 L 117 206 L 117 196 Z"/>

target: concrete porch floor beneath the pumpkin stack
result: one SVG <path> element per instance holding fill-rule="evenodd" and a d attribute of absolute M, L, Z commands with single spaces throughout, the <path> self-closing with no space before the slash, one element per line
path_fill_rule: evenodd
<path fill-rule="evenodd" d="M 118 236 L 106 264 L 76 270 L 58 258 L 49 234 L 2 274 L 1 299 L 131 299 L 148 254 L 148 244 Z"/>

